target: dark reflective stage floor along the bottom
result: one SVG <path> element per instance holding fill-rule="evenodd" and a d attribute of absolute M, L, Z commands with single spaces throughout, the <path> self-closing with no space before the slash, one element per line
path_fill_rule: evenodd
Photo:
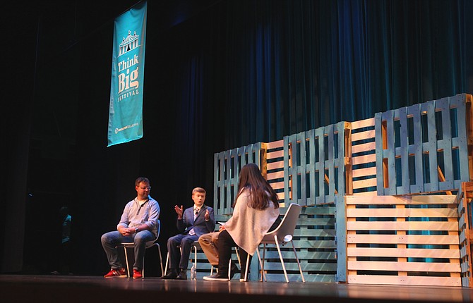
<path fill-rule="evenodd" d="M 473 302 L 473 289 L 0 275 L 1 302 Z M 162 301 L 164 300 L 164 301 Z M 169 300 L 169 301 L 168 301 Z"/>

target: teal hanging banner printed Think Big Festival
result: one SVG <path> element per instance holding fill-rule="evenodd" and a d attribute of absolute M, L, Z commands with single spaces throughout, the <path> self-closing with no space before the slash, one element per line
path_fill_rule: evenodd
<path fill-rule="evenodd" d="M 147 7 L 140 2 L 114 20 L 107 147 L 143 137 Z"/>

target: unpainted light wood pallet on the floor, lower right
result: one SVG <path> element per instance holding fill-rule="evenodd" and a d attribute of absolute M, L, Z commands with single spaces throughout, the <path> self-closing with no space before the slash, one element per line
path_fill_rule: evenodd
<path fill-rule="evenodd" d="M 461 286 L 456 196 L 345 197 L 347 282 Z"/>

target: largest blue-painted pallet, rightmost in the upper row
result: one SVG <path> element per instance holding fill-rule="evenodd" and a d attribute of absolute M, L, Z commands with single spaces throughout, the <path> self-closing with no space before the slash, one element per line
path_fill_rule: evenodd
<path fill-rule="evenodd" d="M 472 95 L 457 94 L 376 113 L 378 195 L 453 191 L 469 181 L 471 104 Z"/>

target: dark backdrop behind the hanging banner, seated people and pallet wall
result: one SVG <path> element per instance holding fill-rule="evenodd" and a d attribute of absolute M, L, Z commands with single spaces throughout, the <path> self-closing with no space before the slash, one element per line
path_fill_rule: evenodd
<path fill-rule="evenodd" d="M 165 254 L 172 206 L 212 205 L 215 152 L 473 92 L 470 1 L 149 1 L 144 137 L 107 148 L 113 19 L 137 2 L 7 6 L 2 272 L 54 270 L 64 204 L 73 272 L 106 272 L 139 175 Z"/>

